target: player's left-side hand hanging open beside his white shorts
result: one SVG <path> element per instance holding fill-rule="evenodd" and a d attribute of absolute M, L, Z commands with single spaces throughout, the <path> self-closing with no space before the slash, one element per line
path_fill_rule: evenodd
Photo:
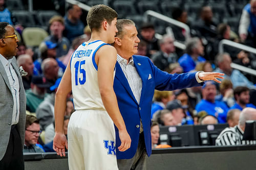
<path fill-rule="evenodd" d="M 67 137 L 64 133 L 56 132 L 53 138 L 53 150 L 56 151 L 59 156 L 66 156 L 65 147 L 68 149 Z"/>

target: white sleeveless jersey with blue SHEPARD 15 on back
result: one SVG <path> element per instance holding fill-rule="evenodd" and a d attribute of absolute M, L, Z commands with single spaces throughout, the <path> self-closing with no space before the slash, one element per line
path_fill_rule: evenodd
<path fill-rule="evenodd" d="M 72 55 L 70 69 L 75 110 L 105 110 L 99 92 L 95 54 L 106 44 L 100 40 L 84 42 Z"/>

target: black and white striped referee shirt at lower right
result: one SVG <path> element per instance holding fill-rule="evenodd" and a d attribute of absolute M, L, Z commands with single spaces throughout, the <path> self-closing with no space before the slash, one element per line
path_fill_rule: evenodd
<path fill-rule="evenodd" d="M 256 144 L 256 140 L 243 140 L 243 134 L 244 132 L 238 125 L 225 128 L 217 137 L 216 145 Z"/>

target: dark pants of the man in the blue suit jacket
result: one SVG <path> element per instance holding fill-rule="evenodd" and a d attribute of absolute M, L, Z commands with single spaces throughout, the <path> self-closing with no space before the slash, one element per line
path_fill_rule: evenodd
<path fill-rule="evenodd" d="M 117 159 L 119 170 L 145 170 L 146 169 L 146 147 L 144 134 L 139 137 L 138 148 L 132 159 Z"/>

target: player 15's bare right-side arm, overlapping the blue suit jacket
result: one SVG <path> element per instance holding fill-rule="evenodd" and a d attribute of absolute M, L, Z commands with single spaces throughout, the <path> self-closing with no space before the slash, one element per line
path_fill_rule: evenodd
<path fill-rule="evenodd" d="M 113 89 L 114 68 L 116 64 L 116 50 L 113 46 L 104 45 L 96 53 L 98 64 L 98 83 L 102 102 L 114 124 L 118 128 L 121 145 L 119 151 L 125 151 L 131 147 L 131 138 L 119 111 L 116 94 Z"/>

